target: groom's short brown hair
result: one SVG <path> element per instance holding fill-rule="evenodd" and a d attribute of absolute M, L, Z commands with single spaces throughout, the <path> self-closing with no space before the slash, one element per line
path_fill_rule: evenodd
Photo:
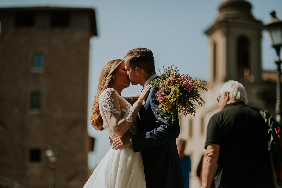
<path fill-rule="evenodd" d="M 155 72 L 155 60 L 153 52 L 147 48 L 135 48 L 129 50 L 124 56 L 128 60 L 129 66 L 132 68 L 142 68 L 147 74 Z"/>

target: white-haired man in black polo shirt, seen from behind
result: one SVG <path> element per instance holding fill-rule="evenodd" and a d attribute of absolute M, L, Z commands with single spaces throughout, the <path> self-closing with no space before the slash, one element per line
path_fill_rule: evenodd
<path fill-rule="evenodd" d="M 247 106 L 244 86 L 222 85 L 220 110 L 208 123 L 202 187 L 273 187 L 268 155 L 268 127 L 255 108 Z"/>

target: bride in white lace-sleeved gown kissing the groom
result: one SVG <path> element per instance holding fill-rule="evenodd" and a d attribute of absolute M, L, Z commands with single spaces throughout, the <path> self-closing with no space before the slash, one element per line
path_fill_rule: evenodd
<path fill-rule="evenodd" d="M 125 131 L 137 134 L 135 118 L 146 99 L 150 86 L 140 94 L 121 97 L 121 92 L 130 84 L 124 60 L 110 61 L 103 68 L 98 90 L 92 103 L 91 125 L 105 130 L 114 140 Z M 110 149 L 84 185 L 105 188 L 146 187 L 142 156 L 132 146 Z"/>

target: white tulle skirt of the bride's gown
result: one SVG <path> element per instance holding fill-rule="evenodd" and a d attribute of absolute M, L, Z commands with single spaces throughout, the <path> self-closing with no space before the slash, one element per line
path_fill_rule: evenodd
<path fill-rule="evenodd" d="M 110 149 L 83 188 L 145 188 L 141 152 Z"/>

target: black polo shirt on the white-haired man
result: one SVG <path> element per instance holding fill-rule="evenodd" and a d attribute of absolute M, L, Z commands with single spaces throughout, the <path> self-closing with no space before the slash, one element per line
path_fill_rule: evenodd
<path fill-rule="evenodd" d="M 205 148 L 220 146 L 216 187 L 270 187 L 267 129 L 259 111 L 243 101 L 225 105 L 210 118 Z"/>

